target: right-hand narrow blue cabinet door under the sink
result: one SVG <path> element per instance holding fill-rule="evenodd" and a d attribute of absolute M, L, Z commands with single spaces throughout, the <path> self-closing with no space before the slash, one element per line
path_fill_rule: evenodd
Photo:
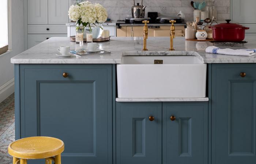
<path fill-rule="evenodd" d="M 163 102 L 163 164 L 208 163 L 208 102 Z"/>

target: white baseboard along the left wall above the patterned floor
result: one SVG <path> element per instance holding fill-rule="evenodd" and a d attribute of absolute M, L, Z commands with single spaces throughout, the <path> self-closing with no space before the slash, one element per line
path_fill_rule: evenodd
<path fill-rule="evenodd" d="M 4 101 L 12 93 L 14 93 L 14 78 L 0 86 L 0 102 Z"/>

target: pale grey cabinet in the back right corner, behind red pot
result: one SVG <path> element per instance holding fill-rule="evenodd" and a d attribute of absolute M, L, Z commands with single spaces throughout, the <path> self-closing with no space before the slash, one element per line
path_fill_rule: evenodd
<path fill-rule="evenodd" d="M 233 22 L 250 27 L 246 33 L 256 33 L 256 1 L 255 0 L 232 0 L 231 17 Z"/>

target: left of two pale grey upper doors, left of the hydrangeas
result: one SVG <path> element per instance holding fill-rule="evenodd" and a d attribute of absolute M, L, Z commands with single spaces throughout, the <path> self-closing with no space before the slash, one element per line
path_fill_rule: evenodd
<path fill-rule="evenodd" d="M 48 0 L 27 0 L 27 24 L 48 24 Z"/>

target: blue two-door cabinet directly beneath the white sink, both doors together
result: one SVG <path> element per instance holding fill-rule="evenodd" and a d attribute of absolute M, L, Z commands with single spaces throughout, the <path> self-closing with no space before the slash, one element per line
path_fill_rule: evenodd
<path fill-rule="evenodd" d="M 208 102 L 117 102 L 116 152 L 117 164 L 208 164 Z"/>

